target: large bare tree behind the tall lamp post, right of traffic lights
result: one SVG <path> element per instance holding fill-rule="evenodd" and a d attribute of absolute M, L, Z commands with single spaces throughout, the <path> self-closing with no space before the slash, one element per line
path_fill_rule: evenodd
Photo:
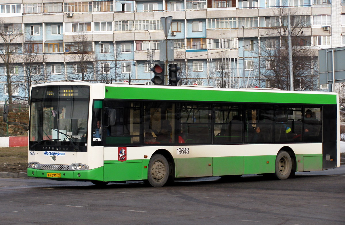
<path fill-rule="evenodd" d="M 265 25 L 271 27 L 272 37 L 262 38 L 259 44 L 261 57 L 258 67 L 260 82 L 270 88 L 288 90 L 288 9 L 275 9 L 275 16 L 265 18 Z M 311 36 L 303 32 L 310 27 L 310 16 L 298 15 L 290 9 L 292 35 L 293 81 L 296 90 L 314 90 L 317 83 L 317 60 L 311 46 Z M 276 35 L 278 34 L 278 35 Z M 273 37 L 275 36 L 275 37 Z M 276 37 L 278 36 L 278 37 Z M 263 85 L 263 86 L 265 86 Z"/>

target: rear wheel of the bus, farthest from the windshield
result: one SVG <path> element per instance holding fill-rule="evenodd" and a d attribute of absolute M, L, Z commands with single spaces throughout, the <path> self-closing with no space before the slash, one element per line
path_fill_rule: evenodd
<path fill-rule="evenodd" d="M 289 153 L 285 151 L 279 151 L 276 157 L 275 164 L 275 177 L 279 180 L 287 179 L 292 170 L 292 161 Z"/>

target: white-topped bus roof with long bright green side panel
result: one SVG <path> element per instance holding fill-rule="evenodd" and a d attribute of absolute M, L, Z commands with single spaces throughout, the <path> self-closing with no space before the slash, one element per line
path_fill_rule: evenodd
<path fill-rule="evenodd" d="M 269 89 L 225 89 L 203 86 L 169 86 L 105 84 L 87 82 L 54 82 L 42 85 L 90 85 L 101 88 L 105 99 L 207 101 L 207 102 L 253 102 L 289 104 L 337 104 L 334 92 L 281 91 Z"/>

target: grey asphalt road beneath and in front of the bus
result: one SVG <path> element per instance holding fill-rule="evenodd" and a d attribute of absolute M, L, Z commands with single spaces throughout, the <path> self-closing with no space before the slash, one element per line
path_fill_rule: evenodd
<path fill-rule="evenodd" d="M 174 186 L 0 178 L 0 224 L 344 225 L 345 166 L 284 181 L 247 175 Z"/>

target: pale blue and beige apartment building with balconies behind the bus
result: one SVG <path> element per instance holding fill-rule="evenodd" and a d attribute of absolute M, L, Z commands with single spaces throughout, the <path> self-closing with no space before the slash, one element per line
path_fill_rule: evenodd
<path fill-rule="evenodd" d="M 296 35 L 315 64 L 318 49 L 345 45 L 342 1 L 3 0 L 0 98 L 26 95 L 31 84 L 48 81 L 151 84 L 150 68 L 165 39 L 160 18 L 168 16 L 175 58 L 169 63 L 181 65 L 183 84 L 265 88 L 270 84 L 262 74 L 272 68 L 269 60 L 262 63 L 265 49 L 284 42 L 282 18 L 303 19 Z M 317 74 L 310 73 L 318 90 Z"/>

